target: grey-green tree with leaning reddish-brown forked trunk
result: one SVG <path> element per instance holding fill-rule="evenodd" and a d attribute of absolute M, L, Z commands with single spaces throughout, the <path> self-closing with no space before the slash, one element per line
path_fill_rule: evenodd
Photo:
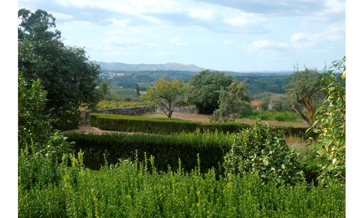
<path fill-rule="evenodd" d="M 304 71 L 294 73 L 291 76 L 291 81 L 285 87 L 290 107 L 308 125 L 311 125 L 315 112 L 312 102 L 317 98 L 317 88 L 321 87 L 321 83 L 318 81 L 319 78 L 321 78 L 321 74 L 317 70 L 306 68 Z M 308 111 L 308 118 L 301 112 L 298 104 L 301 104 Z"/>

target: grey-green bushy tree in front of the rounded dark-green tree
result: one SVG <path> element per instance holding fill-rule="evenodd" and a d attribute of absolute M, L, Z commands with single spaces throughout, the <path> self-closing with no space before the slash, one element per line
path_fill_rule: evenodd
<path fill-rule="evenodd" d="M 236 117 L 250 106 L 245 83 L 235 80 L 230 84 L 228 90 L 220 90 L 218 104 L 219 108 L 214 111 L 210 121 L 235 121 Z"/>

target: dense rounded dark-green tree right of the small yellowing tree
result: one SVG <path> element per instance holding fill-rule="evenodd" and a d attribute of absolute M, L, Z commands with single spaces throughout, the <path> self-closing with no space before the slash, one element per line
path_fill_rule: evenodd
<path fill-rule="evenodd" d="M 198 113 L 212 114 L 218 108 L 219 91 L 227 90 L 233 80 L 224 72 L 203 70 L 189 80 L 186 100 L 196 106 Z"/>

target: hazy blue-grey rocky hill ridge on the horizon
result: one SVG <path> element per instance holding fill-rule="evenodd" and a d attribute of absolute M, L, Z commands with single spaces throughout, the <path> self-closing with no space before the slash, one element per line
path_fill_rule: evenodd
<path fill-rule="evenodd" d="M 95 62 L 100 65 L 102 71 L 190 71 L 200 72 L 206 68 L 198 67 L 194 64 L 165 63 L 165 64 L 128 64 L 120 62 Z"/>

